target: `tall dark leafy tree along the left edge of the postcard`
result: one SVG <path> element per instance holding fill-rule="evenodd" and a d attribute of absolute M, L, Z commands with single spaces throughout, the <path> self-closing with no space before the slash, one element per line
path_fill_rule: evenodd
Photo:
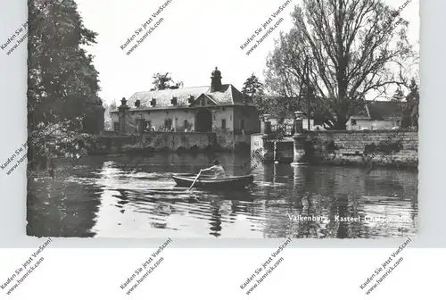
<path fill-rule="evenodd" d="M 73 0 L 29 0 L 28 132 L 29 161 L 48 148 L 72 143 L 94 130 L 103 113 L 93 56 L 95 44 Z"/>

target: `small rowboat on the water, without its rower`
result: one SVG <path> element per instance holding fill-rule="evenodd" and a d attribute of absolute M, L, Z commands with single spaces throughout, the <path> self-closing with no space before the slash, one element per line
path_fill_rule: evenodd
<path fill-rule="evenodd" d="M 172 178 L 177 183 L 178 187 L 190 187 L 194 182 L 197 174 L 174 174 Z M 231 176 L 225 178 L 214 178 L 211 175 L 200 175 L 196 180 L 194 187 L 216 188 L 216 189 L 239 189 L 252 184 L 254 176 Z"/>

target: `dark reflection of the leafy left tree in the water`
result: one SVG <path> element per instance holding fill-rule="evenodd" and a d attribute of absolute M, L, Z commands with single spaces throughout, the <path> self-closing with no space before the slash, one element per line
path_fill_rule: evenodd
<path fill-rule="evenodd" d="M 54 179 L 45 172 L 28 176 L 27 235 L 37 237 L 93 237 L 103 187 L 95 183 L 103 159 L 85 157 L 73 165 L 56 162 Z M 84 182 L 87 181 L 87 182 Z"/>

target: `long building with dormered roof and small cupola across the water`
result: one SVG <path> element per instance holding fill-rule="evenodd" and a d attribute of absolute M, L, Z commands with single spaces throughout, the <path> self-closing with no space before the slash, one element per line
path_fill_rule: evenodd
<path fill-rule="evenodd" d="M 211 86 L 136 92 L 121 100 L 111 112 L 113 130 L 215 132 L 234 134 L 260 132 L 259 113 L 251 98 L 231 84 L 221 83 L 221 72 L 211 73 Z M 123 117 L 125 115 L 125 118 Z"/>

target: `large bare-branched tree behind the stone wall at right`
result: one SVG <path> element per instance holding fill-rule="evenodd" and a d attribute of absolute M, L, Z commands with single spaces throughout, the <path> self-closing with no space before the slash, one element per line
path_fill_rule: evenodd
<path fill-rule="evenodd" d="M 328 129 L 345 129 L 366 97 L 403 83 L 399 74 L 413 55 L 409 23 L 383 1 L 303 0 L 292 15 L 293 29 L 268 56 L 267 87 L 295 101 L 310 97 L 311 113 Z"/>

